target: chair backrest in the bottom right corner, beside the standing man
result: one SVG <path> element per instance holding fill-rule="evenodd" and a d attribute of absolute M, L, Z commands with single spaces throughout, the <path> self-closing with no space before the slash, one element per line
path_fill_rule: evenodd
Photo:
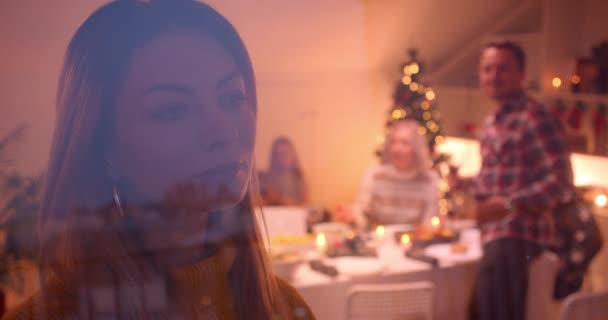
<path fill-rule="evenodd" d="M 579 292 L 570 295 L 562 306 L 561 320 L 608 319 L 607 292 Z"/>

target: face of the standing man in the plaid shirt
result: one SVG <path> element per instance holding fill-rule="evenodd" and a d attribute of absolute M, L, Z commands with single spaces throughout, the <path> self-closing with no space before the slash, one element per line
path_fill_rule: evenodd
<path fill-rule="evenodd" d="M 523 88 L 525 72 L 508 49 L 486 48 L 479 62 L 479 82 L 492 99 L 509 98 Z"/>

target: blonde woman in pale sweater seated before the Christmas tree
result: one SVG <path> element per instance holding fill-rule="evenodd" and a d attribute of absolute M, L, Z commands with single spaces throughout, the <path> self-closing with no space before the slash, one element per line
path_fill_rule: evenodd
<path fill-rule="evenodd" d="M 419 224 L 438 213 L 439 175 L 417 128 L 416 121 L 402 120 L 389 129 L 384 159 L 365 174 L 348 219 L 358 228 Z"/>

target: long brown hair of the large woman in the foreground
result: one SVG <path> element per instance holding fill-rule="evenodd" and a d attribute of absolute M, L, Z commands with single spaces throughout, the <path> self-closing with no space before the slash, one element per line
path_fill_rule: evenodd
<path fill-rule="evenodd" d="M 150 39 L 173 30 L 202 32 L 217 40 L 244 76 L 250 105 L 257 107 L 247 50 L 231 23 L 210 6 L 194 0 L 116 0 L 94 12 L 72 38 L 59 82 L 40 221 L 43 292 L 53 276 L 73 280 L 75 261 L 87 256 L 95 245 L 92 236 L 87 238 L 86 232 L 78 231 L 83 228 L 83 212 L 99 213 L 96 209 L 112 203 L 103 152 L 113 130 L 115 99 L 129 59 Z M 252 185 L 237 206 L 242 227 L 232 239 L 238 251 L 228 282 L 239 319 L 270 319 L 279 309 L 277 284 L 253 216 Z M 112 221 L 101 219 L 103 223 Z M 103 247 L 110 245 L 116 246 L 111 248 L 114 252 L 121 250 L 121 242 L 116 240 L 97 247 L 96 253 L 103 255 Z M 128 257 L 129 251 L 123 251 Z M 137 268 L 123 264 L 117 268 L 137 278 Z"/>

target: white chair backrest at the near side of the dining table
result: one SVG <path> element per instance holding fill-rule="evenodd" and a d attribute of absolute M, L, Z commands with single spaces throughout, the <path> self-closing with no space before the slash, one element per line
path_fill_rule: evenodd
<path fill-rule="evenodd" d="M 348 291 L 346 320 L 433 318 L 433 284 L 361 284 Z"/>

